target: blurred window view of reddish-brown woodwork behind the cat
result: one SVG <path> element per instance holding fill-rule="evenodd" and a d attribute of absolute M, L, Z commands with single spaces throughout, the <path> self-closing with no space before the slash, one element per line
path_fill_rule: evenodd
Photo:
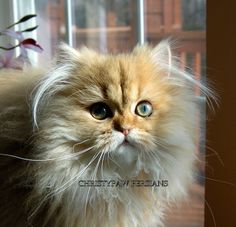
<path fill-rule="evenodd" d="M 61 41 L 73 47 L 88 46 L 101 52 L 127 52 L 145 42 L 156 45 L 171 37 L 177 40 L 175 54 L 185 70 L 205 80 L 206 33 L 205 0 L 0 0 L 0 29 L 26 14 L 37 18 L 15 29 L 39 25 L 30 34 L 43 47 L 42 54 L 30 53 L 34 65 L 49 65 Z M 23 27 L 22 27 L 23 26 Z M 8 42 L 1 37 L 0 42 Z M 188 68 L 186 68 L 188 67 Z M 201 97 L 199 90 L 196 94 Z M 205 101 L 196 117 L 196 154 L 199 155 L 197 181 L 189 198 L 173 205 L 167 227 L 204 226 Z M 201 116 L 201 117 L 200 117 Z"/>

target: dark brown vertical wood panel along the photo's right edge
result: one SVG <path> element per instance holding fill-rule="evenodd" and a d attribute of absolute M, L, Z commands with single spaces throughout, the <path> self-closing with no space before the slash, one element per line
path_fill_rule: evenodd
<path fill-rule="evenodd" d="M 236 1 L 207 0 L 207 67 L 220 108 L 207 123 L 205 226 L 236 226 Z M 224 165 L 221 164 L 218 153 Z M 234 186 L 233 186 L 234 184 Z M 209 209 L 212 209 L 212 212 Z M 213 214 L 211 214 L 213 213 Z"/>

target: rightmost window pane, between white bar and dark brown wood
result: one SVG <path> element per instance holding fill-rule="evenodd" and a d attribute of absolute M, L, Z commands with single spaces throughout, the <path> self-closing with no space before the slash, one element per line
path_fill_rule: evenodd
<path fill-rule="evenodd" d="M 205 78 L 205 0 L 146 0 L 146 39 L 157 44 L 160 40 L 172 37 L 176 44 L 175 55 L 181 59 L 181 67 L 193 72 L 198 80 Z M 196 89 L 196 94 L 199 90 Z M 189 227 L 204 226 L 204 153 L 205 144 L 205 102 L 201 98 L 201 113 L 196 117 L 201 131 L 196 129 L 196 153 L 198 178 L 189 192 L 189 199 L 170 209 L 165 226 Z"/>

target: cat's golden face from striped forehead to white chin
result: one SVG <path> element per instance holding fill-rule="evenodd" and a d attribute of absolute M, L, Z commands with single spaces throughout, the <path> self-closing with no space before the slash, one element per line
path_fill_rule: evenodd
<path fill-rule="evenodd" d="M 148 59 L 107 57 L 82 67 L 72 93 L 80 136 L 111 157 L 123 156 L 124 162 L 131 153 L 136 157 L 154 150 L 171 97 Z"/>

